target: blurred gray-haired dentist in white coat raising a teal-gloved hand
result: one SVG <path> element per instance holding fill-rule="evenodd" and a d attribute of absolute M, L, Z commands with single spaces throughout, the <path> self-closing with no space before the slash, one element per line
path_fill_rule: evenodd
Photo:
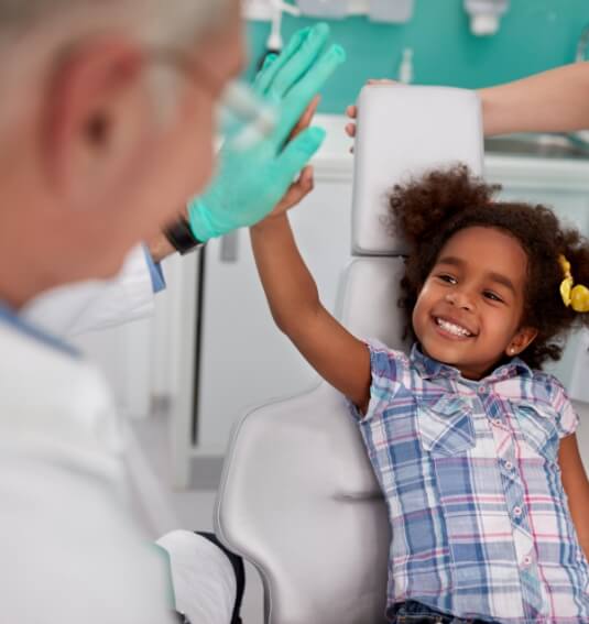
<path fill-rule="evenodd" d="M 218 185 L 178 215 L 207 183 L 217 101 L 243 64 L 237 0 L 175 0 L 173 10 L 164 0 L 0 0 L 2 622 L 175 621 L 170 606 L 182 596 L 130 513 L 110 393 L 89 362 L 21 313 L 64 284 L 111 278 L 130 249 L 162 242 L 163 230 L 178 247 L 204 242 L 308 184 L 290 187 L 321 132 L 285 142 L 341 61 L 321 37 L 303 33 L 266 67 L 257 91 L 282 102 L 276 124 L 258 124 L 255 143 L 228 142 Z M 247 107 L 236 98 L 239 117 Z M 246 179 L 243 155 L 248 173 L 265 176 L 255 196 L 262 177 Z M 198 583 L 208 563 L 183 570 L 194 579 L 194 624 L 231 616 Z"/>

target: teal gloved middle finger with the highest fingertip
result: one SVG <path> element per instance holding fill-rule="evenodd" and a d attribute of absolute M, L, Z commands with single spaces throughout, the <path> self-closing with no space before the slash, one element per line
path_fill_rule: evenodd
<path fill-rule="evenodd" d="M 298 80 L 317 63 L 325 52 L 328 37 L 329 26 L 327 24 L 319 23 L 312 29 L 307 37 L 301 42 L 298 48 L 284 63 L 269 85 L 268 97 L 271 101 L 283 100 Z"/>

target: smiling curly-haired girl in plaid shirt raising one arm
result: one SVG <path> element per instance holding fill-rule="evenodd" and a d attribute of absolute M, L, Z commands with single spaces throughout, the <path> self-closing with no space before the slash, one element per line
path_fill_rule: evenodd
<path fill-rule="evenodd" d="M 412 248 L 408 355 L 355 338 L 321 306 L 292 204 L 251 229 L 274 320 L 349 398 L 386 497 L 391 622 L 589 622 L 577 416 L 541 371 L 589 326 L 589 243 L 497 190 L 466 167 L 393 189 L 391 221 Z"/>

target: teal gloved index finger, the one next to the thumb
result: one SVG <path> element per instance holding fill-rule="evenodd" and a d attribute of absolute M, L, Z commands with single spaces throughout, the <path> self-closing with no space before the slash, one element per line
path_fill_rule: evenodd
<path fill-rule="evenodd" d="M 320 91 L 321 87 L 334 72 L 346 61 L 346 52 L 340 45 L 331 45 L 317 61 L 307 74 L 291 89 L 284 98 L 281 108 L 279 124 L 273 132 L 277 145 L 282 145 L 295 127 L 310 100 Z"/>

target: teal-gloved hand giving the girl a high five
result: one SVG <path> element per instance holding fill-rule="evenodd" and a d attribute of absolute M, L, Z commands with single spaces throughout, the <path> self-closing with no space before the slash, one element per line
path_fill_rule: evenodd
<path fill-rule="evenodd" d="M 205 242 L 263 219 L 286 193 L 294 177 L 319 149 L 325 131 L 308 128 L 285 144 L 293 128 L 346 54 L 327 51 L 327 24 L 293 35 L 285 50 L 270 57 L 253 89 L 279 107 L 271 136 L 244 151 L 223 146 L 219 169 L 208 190 L 188 204 L 194 236 Z"/>

